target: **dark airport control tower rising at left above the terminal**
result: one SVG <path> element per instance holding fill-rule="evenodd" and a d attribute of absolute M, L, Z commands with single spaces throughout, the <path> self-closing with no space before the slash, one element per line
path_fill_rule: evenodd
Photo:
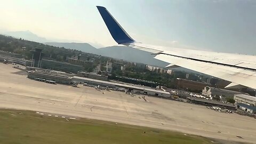
<path fill-rule="evenodd" d="M 30 51 L 32 55 L 31 67 L 40 67 L 42 63 L 42 49 L 35 48 Z"/>

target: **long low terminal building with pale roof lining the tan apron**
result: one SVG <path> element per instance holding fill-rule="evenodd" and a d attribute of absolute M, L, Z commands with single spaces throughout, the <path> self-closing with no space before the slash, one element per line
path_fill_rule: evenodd
<path fill-rule="evenodd" d="M 86 77 L 75 76 L 74 74 L 67 74 L 61 71 L 53 71 L 53 70 L 45 70 L 45 69 L 35 69 L 28 71 L 28 78 L 42 78 L 49 81 L 54 81 L 56 83 L 61 84 L 72 84 L 72 83 L 80 83 L 80 84 L 90 84 L 95 86 L 104 86 L 109 88 L 122 87 L 126 89 L 128 92 L 133 91 L 133 93 L 145 94 L 145 95 L 153 95 L 157 97 L 169 98 L 171 97 L 170 92 L 161 91 L 157 89 L 151 89 L 151 87 L 140 87 L 135 85 L 127 85 L 123 83 L 114 83 L 109 81 L 101 81 L 99 79 L 91 79 Z"/>

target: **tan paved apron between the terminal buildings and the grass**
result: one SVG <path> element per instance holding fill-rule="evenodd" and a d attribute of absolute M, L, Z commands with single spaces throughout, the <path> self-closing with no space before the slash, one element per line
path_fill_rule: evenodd
<path fill-rule="evenodd" d="M 214 139 L 256 142 L 256 119 L 251 117 L 219 113 L 204 106 L 155 97 L 146 97 L 146 102 L 139 99 L 139 95 L 131 97 L 124 92 L 78 86 L 34 81 L 28 79 L 24 71 L 0 63 L 1 108 L 154 127 Z"/>

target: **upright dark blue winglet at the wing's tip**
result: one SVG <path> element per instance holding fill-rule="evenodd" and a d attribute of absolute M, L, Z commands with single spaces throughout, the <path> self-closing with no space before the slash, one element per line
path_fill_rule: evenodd
<path fill-rule="evenodd" d="M 97 6 L 101 17 L 106 23 L 111 36 L 118 44 L 135 42 L 126 31 L 119 25 L 115 18 L 108 12 L 105 7 Z"/>

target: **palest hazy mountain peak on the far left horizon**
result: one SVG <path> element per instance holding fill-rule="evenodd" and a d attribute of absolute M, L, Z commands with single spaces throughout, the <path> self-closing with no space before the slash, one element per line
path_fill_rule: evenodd
<path fill-rule="evenodd" d="M 49 42 L 49 40 L 47 40 L 46 38 L 39 37 L 36 34 L 31 33 L 31 31 L 29 31 L 29 30 L 26 30 L 26 31 L 6 31 L 3 34 L 8 35 L 8 36 L 12 36 L 12 37 L 15 37 L 15 38 L 26 39 L 28 41 L 38 42 L 38 43 Z"/>

